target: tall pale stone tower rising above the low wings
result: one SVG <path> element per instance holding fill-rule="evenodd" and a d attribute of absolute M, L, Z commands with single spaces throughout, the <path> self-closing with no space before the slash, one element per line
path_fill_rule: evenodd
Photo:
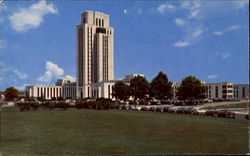
<path fill-rule="evenodd" d="M 77 97 L 91 97 L 91 85 L 114 79 L 114 29 L 109 16 L 85 11 L 76 26 Z"/>

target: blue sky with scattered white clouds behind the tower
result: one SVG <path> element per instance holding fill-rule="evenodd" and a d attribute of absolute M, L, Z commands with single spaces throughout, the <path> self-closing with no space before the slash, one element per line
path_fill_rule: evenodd
<path fill-rule="evenodd" d="M 159 71 L 170 81 L 248 83 L 248 7 L 237 1 L 4 1 L 0 90 L 74 79 L 76 25 L 85 10 L 110 15 L 115 78 Z"/>

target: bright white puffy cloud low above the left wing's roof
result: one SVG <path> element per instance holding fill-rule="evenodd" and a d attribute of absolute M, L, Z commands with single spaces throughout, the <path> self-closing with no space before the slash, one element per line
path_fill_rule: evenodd
<path fill-rule="evenodd" d="M 53 62 L 46 62 L 46 71 L 43 76 L 40 76 L 37 80 L 41 82 L 50 83 L 53 78 L 59 78 L 64 74 L 64 70 L 59 68 L 58 65 Z"/>

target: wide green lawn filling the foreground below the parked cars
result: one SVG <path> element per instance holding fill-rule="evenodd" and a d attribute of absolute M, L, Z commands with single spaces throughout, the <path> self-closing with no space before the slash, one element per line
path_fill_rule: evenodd
<path fill-rule="evenodd" d="M 247 127 L 182 114 L 2 108 L 2 155 L 245 154 Z"/>

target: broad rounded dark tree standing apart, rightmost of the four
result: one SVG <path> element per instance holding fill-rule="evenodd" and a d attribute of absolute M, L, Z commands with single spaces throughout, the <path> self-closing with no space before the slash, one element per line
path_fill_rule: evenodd
<path fill-rule="evenodd" d="M 188 76 L 181 82 L 177 89 L 177 96 L 181 100 L 192 101 L 194 99 L 205 98 L 206 87 L 194 76 Z"/>

